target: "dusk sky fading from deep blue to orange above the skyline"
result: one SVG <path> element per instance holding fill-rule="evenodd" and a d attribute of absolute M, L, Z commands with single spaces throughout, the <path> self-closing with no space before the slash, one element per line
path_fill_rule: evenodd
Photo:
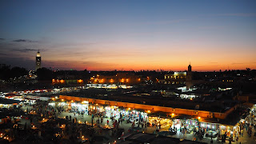
<path fill-rule="evenodd" d="M 34 70 L 256 69 L 256 1 L 0 1 L 0 63 Z"/>

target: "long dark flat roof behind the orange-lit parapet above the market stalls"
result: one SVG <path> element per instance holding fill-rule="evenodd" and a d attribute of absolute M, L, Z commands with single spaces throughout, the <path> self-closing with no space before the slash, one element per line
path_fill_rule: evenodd
<path fill-rule="evenodd" d="M 130 102 L 150 106 L 165 106 L 189 110 L 206 110 L 218 113 L 224 113 L 226 110 L 229 110 L 231 107 L 234 107 L 237 104 L 237 102 L 233 100 L 214 100 L 210 102 L 203 102 L 195 100 L 176 99 L 175 97 L 168 98 L 160 96 L 134 96 L 131 94 L 122 94 L 118 91 L 106 92 L 105 90 L 85 90 L 62 95 L 71 95 L 82 98 L 94 98 L 117 102 Z"/>

